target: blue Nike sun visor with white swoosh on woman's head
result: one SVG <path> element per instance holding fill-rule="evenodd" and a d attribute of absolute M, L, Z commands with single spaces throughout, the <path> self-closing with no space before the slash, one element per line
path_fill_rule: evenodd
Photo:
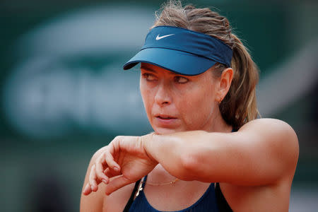
<path fill-rule="evenodd" d="M 230 67 L 232 49 L 204 33 L 173 26 L 158 26 L 147 35 L 141 50 L 124 64 L 124 70 L 139 62 L 160 66 L 183 75 L 198 75 L 216 64 Z"/>

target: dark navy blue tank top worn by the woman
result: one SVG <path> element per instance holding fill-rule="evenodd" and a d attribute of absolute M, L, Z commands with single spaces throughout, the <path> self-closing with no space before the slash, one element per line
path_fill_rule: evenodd
<path fill-rule="evenodd" d="M 142 182 L 142 188 L 145 187 L 147 176 Z M 181 211 L 175 211 L 175 212 L 206 212 L 206 211 L 213 211 L 218 212 L 218 206 L 217 206 L 217 200 L 216 200 L 216 192 L 214 189 L 214 184 L 211 183 L 208 189 L 206 189 L 206 192 L 201 196 L 201 198 L 196 201 L 192 206 L 189 206 L 188 208 L 184 208 Z M 136 197 L 134 202 L 131 204 L 131 208 L 129 209 L 129 212 L 160 212 L 153 208 L 151 204 L 148 203 L 145 193 L 143 193 L 143 189 L 139 191 L 139 195 Z"/>

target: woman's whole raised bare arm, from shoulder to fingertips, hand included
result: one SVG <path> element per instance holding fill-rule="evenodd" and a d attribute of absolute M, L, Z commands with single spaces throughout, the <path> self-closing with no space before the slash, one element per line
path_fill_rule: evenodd
<path fill-rule="evenodd" d="M 100 152 L 83 189 L 85 195 L 95 192 L 102 179 L 107 184 L 105 193 L 112 194 L 147 175 L 158 163 L 170 175 L 186 181 L 262 186 L 288 178 L 291 183 L 299 147 L 295 131 L 285 122 L 255 119 L 233 133 L 119 136 Z M 115 166 L 119 172 L 114 171 Z M 114 179 L 109 181 L 111 177 Z"/>

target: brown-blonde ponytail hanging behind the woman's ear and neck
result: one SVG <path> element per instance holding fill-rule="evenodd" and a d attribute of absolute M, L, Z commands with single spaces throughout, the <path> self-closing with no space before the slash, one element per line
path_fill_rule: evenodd
<path fill-rule="evenodd" d="M 259 69 L 249 55 L 248 50 L 231 34 L 233 40 L 231 66 L 234 76 L 228 94 L 220 102 L 223 119 L 235 129 L 257 118 L 256 85 L 259 81 Z"/>

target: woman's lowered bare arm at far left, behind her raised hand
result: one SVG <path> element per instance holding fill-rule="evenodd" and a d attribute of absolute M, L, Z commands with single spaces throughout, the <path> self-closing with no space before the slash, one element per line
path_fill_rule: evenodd
<path fill-rule="evenodd" d="M 90 164 L 88 165 L 88 169 L 86 172 L 85 180 L 83 183 L 83 189 L 86 187 L 86 184 L 88 183 L 89 175 L 90 175 L 90 169 L 92 165 L 95 163 L 95 160 L 98 158 L 98 156 L 102 153 L 103 148 L 100 148 L 99 151 L 97 151 L 93 157 L 90 159 Z M 103 192 L 104 187 L 102 187 L 102 184 L 98 186 L 97 192 L 92 192 L 88 196 L 83 195 L 83 189 L 81 193 L 81 206 L 80 211 L 83 212 L 96 212 L 96 211 L 102 211 L 102 204 L 105 198 L 105 192 Z"/>

